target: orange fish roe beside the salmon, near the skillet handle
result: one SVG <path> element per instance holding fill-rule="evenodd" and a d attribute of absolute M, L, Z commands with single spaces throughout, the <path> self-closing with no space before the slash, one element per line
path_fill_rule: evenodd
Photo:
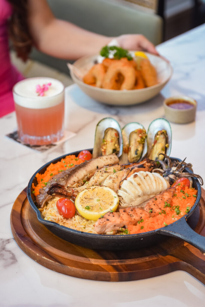
<path fill-rule="evenodd" d="M 137 225 L 128 225 L 128 233 L 142 233 L 165 227 L 187 214 L 194 205 L 197 190 L 185 187 L 184 190 L 179 186 L 172 199 L 171 204 L 165 204 L 164 208 L 157 216 L 141 220 Z"/>

